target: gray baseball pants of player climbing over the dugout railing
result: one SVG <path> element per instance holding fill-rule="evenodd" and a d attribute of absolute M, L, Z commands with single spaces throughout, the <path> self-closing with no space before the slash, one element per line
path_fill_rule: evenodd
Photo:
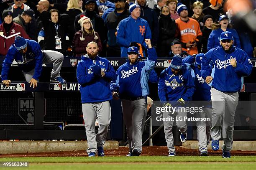
<path fill-rule="evenodd" d="M 59 77 L 61 66 L 63 63 L 63 54 L 58 51 L 52 51 L 52 50 L 44 50 L 43 53 L 43 63 L 44 64 L 53 64 L 53 69 L 51 71 L 51 77 Z M 23 75 L 25 76 L 26 81 L 30 81 L 32 77 L 34 76 L 35 69 L 29 71 L 29 72 L 23 72 Z"/>

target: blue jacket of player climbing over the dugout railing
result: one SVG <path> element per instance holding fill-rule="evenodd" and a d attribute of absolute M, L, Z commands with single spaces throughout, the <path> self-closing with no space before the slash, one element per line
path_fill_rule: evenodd
<path fill-rule="evenodd" d="M 38 80 L 42 71 L 43 53 L 40 45 L 36 41 L 25 40 L 28 42 L 28 49 L 25 54 L 20 53 L 15 48 L 14 43 L 8 49 L 8 53 L 3 61 L 2 80 L 8 80 L 8 73 L 13 60 L 18 63 L 18 66 L 24 72 L 35 69 L 33 79 Z"/>

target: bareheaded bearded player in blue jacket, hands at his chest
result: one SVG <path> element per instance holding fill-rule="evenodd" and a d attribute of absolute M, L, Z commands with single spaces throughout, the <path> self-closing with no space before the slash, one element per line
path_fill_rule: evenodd
<path fill-rule="evenodd" d="M 87 54 L 81 57 L 77 65 L 77 81 L 81 85 L 81 101 L 89 157 L 104 156 L 103 145 L 111 119 L 109 101 L 112 98 L 110 81 L 116 80 L 115 70 L 106 58 L 98 55 L 97 43 L 90 42 Z M 95 135 L 95 121 L 100 127 Z"/>

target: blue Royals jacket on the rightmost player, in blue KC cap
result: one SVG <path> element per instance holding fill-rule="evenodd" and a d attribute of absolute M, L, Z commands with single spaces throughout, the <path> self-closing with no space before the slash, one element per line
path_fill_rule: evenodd
<path fill-rule="evenodd" d="M 237 62 L 234 68 L 230 65 L 230 59 Z M 209 66 L 213 62 L 215 69 Z M 249 76 L 252 71 L 252 63 L 248 55 L 240 48 L 233 46 L 229 53 L 222 46 L 212 48 L 202 58 L 201 74 L 205 79 L 214 74 L 211 86 L 222 92 L 237 92 L 241 89 L 241 77 Z"/>

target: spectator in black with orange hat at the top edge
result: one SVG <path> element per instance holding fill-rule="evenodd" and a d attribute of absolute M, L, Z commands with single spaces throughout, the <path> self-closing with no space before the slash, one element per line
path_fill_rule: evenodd
<path fill-rule="evenodd" d="M 223 13 L 223 0 L 209 0 L 209 2 L 211 5 L 203 9 L 202 13 L 205 15 L 212 15 L 214 22 L 215 20 L 218 20 L 220 14 Z"/>

